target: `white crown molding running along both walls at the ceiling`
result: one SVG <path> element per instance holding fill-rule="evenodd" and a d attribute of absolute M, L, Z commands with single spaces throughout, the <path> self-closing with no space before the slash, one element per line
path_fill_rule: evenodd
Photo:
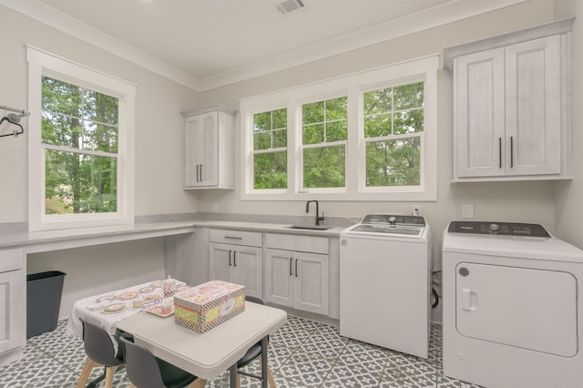
<path fill-rule="evenodd" d="M 184 87 L 203 92 L 527 1 L 529 0 L 452 0 L 445 5 L 406 15 L 380 25 L 370 26 L 353 34 L 338 36 L 291 51 L 285 55 L 275 56 L 249 66 L 242 66 L 229 72 L 200 79 L 169 66 L 153 56 L 148 56 L 138 49 L 107 36 L 37 0 L 0 0 L 0 5 L 5 5 L 68 35 L 76 36 L 113 55 L 144 67 L 162 77 L 167 77 Z"/>

